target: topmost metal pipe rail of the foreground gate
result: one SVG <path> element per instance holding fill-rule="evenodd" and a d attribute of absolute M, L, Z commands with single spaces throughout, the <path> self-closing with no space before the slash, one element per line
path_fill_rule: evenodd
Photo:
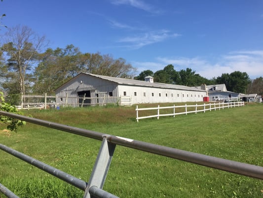
<path fill-rule="evenodd" d="M 227 159 L 213 157 L 209 155 L 194 153 L 194 152 L 190 152 L 186 150 L 180 150 L 177 148 L 169 148 L 169 147 L 159 146 L 159 145 L 141 142 L 137 140 L 122 138 L 118 136 L 107 135 L 107 134 L 103 134 L 103 133 L 99 133 L 95 131 L 80 129 L 77 127 L 71 127 L 68 125 L 58 124 L 54 122 L 48 122 L 45 120 L 26 117 L 26 116 L 13 114 L 13 113 L 5 112 L 5 111 L 0 111 L 0 115 L 9 116 L 15 119 L 24 120 L 30 123 L 34 123 L 34 124 L 54 128 L 57 130 L 89 137 L 92 139 L 103 140 L 103 138 L 106 137 L 107 141 L 112 144 L 121 145 L 121 146 L 128 147 L 128 148 L 135 148 L 138 150 L 143 150 L 143 151 L 147 151 L 147 152 L 158 154 L 158 155 L 163 155 L 163 156 L 170 157 L 170 158 L 180 159 L 183 161 L 187 161 L 187 162 L 191 162 L 191 163 L 195 163 L 195 164 L 199 164 L 199 165 L 203 165 L 203 166 L 220 169 L 220 170 L 224 170 L 227 172 L 232 172 L 232 173 L 245 175 L 245 176 L 263 180 L 263 167 L 262 166 L 256 166 L 252 164 L 246 164 L 242 162 L 227 160 Z"/>

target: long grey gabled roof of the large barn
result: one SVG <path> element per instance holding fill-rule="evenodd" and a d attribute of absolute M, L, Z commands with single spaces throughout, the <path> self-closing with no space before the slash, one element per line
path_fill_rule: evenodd
<path fill-rule="evenodd" d="M 127 79 L 127 78 L 116 78 L 116 77 L 111 77 L 111 76 L 102 76 L 102 75 L 96 75 L 96 74 L 90 74 L 90 73 L 84 73 L 84 72 L 76 75 L 73 79 L 76 79 L 79 75 L 83 75 L 83 74 L 87 75 L 87 76 L 93 76 L 96 78 L 108 80 L 108 81 L 111 81 L 111 82 L 114 82 L 114 83 L 117 83 L 120 85 L 122 84 L 122 85 L 134 85 L 134 86 L 144 86 L 144 87 L 204 92 L 204 90 L 201 90 L 200 88 L 198 89 L 195 87 L 187 87 L 187 86 L 183 86 L 183 85 L 172 85 L 172 84 L 164 84 L 164 83 L 150 83 L 150 82 L 146 82 L 146 81 L 133 80 L 133 79 Z M 70 81 L 72 81 L 73 79 L 71 79 Z M 65 83 L 65 84 L 67 84 L 67 83 Z M 62 86 L 64 86 L 64 85 L 62 85 Z M 62 86 L 60 86 L 60 87 L 62 87 Z M 58 90 L 60 87 L 58 87 L 56 90 Z"/>

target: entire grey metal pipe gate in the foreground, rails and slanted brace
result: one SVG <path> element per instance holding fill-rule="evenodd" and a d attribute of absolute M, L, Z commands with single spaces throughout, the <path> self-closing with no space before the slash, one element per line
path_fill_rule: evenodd
<path fill-rule="evenodd" d="M 5 111 L 0 111 L 0 115 L 8 116 L 14 119 L 24 120 L 30 123 L 38 124 L 41 126 L 73 133 L 76 135 L 101 140 L 102 145 L 99 150 L 96 162 L 93 167 L 90 179 L 88 182 L 82 181 L 74 176 L 64 173 L 60 170 L 54 169 L 53 167 L 44 164 L 37 159 L 20 153 L 12 148 L 8 148 L 4 145 L 0 145 L 0 149 L 12 154 L 28 163 L 58 177 L 75 187 L 85 191 L 83 198 L 117 198 L 116 196 L 103 191 L 103 184 L 106 180 L 108 170 L 110 168 L 110 163 L 113 157 L 114 149 L 116 145 L 124 146 L 127 148 L 134 148 L 153 154 L 158 154 L 174 159 L 179 159 L 187 161 L 190 163 L 195 163 L 227 172 L 232 172 L 240 175 L 249 176 L 252 178 L 257 178 L 263 180 L 263 167 L 256 166 L 252 164 L 241 163 L 237 161 L 227 160 L 223 158 L 213 157 L 209 155 L 194 153 L 186 150 L 180 150 L 177 148 L 169 148 L 160 145 L 150 144 L 146 142 L 141 142 L 137 140 L 127 139 L 123 137 L 107 135 L 95 131 L 80 129 L 76 127 L 71 127 L 68 125 L 58 124 L 54 122 L 49 122 L 45 120 L 40 120 L 36 118 L 26 117 L 18 114 L 13 114 Z M 14 198 L 13 194 L 0 184 L 0 192 L 6 195 L 8 198 Z M 8 193 L 6 193 L 8 192 Z"/>

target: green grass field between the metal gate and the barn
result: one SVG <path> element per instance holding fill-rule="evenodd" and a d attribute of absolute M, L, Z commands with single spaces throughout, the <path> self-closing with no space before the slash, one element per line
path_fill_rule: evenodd
<path fill-rule="evenodd" d="M 263 104 L 139 123 L 135 106 L 30 110 L 24 114 L 263 166 Z M 101 141 L 27 123 L 17 133 L 1 131 L 0 143 L 88 181 Z M 21 198 L 83 197 L 82 191 L 1 150 L 0 183 Z M 262 180 L 121 146 L 115 148 L 103 189 L 120 198 L 263 197 Z"/>

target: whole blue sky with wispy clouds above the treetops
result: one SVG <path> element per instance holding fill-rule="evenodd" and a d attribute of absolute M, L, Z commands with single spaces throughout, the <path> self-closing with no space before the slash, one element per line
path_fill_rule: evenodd
<path fill-rule="evenodd" d="M 208 79 L 263 77 L 263 0 L 3 0 L 3 13 L 2 24 L 27 25 L 52 49 L 122 57 L 138 74 L 173 64 Z"/>

